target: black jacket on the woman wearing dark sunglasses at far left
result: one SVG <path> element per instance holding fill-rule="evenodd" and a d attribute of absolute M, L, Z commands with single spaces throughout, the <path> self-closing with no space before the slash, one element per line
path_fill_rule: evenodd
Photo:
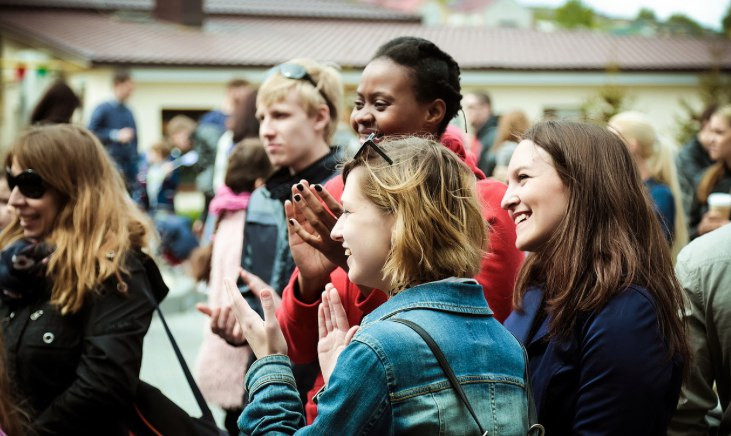
<path fill-rule="evenodd" d="M 127 256 L 125 286 L 110 278 L 72 315 L 50 304 L 50 286 L 21 302 L 0 302 L 7 368 L 41 435 L 127 434 L 139 383 L 142 340 L 167 294 L 146 255 Z"/>

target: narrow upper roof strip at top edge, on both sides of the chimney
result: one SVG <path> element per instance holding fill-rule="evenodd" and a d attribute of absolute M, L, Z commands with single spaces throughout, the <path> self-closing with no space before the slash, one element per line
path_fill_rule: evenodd
<path fill-rule="evenodd" d="M 0 0 L 0 7 L 152 11 L 156 0 Z M 164 1 L 164 0 L 159 0 Z M 352 0 L 202 0 L 206 15 L 420 22 L 418 13 Z"/>

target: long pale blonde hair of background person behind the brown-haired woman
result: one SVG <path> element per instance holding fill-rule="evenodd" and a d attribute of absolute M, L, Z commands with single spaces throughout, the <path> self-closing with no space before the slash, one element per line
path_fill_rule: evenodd
<path fill-rule="evenodd" d="M 683 193 L 680 191 L 678 170 L 675 166 L 676 150 L 667 141 L 658 138 L 650 119 L 643 113 L 627 111 L 613 116 L 609 127 L 618 132 L 625 141 L 633 139 L 639 145 L 639 154 L 647 162 L 650 177 L 667 185 L 673 193 L 675 204 L 675 227 L 673 229 L 673 259 L 688 243 L 688 226 L 683 209 Z"/>

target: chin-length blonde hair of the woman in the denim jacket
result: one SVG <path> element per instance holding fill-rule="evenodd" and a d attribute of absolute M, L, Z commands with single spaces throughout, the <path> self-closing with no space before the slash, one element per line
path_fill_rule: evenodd
<path fill-rule="evenodd" d="M 431 139 L 405 137 L 379 144 L 343 168 L 366 170 L 363 195 L 395 217 L 383 277 L 392 294 L 448 277 L 473 277 L 487 244 L 475 176 L 453 152 Z"/>

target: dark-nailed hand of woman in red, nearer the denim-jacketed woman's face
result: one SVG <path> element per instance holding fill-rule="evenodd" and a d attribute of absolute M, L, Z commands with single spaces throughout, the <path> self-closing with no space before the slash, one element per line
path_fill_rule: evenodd
<path fill-rule="evenodd" d="M 347 270 L 347 256 L 343 247 L 330 237 L 338 217 L 343 213 L 340 203 L 321 185 L 310 186 L 305 180 L 292 187 L 292 194 L 298 212 L 297 217 L 287 216 L 293 220 L 292 230 L 330 263 Z"/>

